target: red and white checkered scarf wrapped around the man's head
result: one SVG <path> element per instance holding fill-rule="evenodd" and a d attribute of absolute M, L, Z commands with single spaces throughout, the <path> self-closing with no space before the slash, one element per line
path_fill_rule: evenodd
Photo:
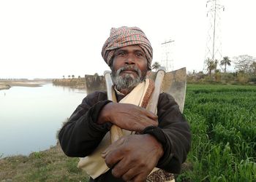
<path fill-rule="evenodd" d="M 153 49 L 145 33 L 138 27 L 122 26 L 120 28 L 111 28 L 110 37 L 102 47 L 102 58 L 110 66 L 116 49 L 130 45 L 141 47 L 148 60 L 148 70 L 151 70 Z"/>

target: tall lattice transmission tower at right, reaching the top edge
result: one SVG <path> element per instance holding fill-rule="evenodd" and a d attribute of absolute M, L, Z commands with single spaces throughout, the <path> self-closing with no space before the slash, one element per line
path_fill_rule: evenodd
<path fill-rule="evenodd" d="M 225 10 L 225 7 L 219 4 L 219 0 L 208 0 L 206 7 L 208 8 L 207 17 L 209 25 L 203 71 L 207 69 L 207 59 L 213 60 L 214 62 L 217 60 L 217 66 L 222 69 L 219 64 L 219 61 L 222 60 L 220 15 Z"/>

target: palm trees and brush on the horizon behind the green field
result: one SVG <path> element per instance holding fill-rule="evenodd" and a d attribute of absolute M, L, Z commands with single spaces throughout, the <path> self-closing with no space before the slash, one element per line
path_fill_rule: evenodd
<path fill-rule="evenodd" d="M 220 82 L 220 83 L 256 83 L 256 58 L 251 55 L 238 55 L 231 60 L 228 56 L 222 60 L 205 60 L 203 71 L 192 71 L 187 74 L 188 82 Z M 159 62 L 152 64 L 152 69 L 160 67 Z M 233 71 L 227 68 L 233 66 Z"/>

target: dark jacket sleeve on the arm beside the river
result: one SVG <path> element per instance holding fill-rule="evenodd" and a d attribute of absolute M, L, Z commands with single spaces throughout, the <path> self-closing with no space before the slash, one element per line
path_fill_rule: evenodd
<path fill-rule="evenodd" d="M 97 124 L 101 109 L 110 102 L 103 92 L 87 95 L 59 132 L 59 142 L 69 157 L 86 157 L 110 130 L 110 123 Z"/>

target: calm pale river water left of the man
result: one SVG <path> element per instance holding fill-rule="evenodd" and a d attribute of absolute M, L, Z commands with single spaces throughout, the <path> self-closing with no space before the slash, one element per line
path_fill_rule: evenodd
<path fill-rule="evenodd" d="M 0 157 L 48 149 L 56 132 L 86 96 L 86 90 L 11 87 L 0 90 Z"/>

